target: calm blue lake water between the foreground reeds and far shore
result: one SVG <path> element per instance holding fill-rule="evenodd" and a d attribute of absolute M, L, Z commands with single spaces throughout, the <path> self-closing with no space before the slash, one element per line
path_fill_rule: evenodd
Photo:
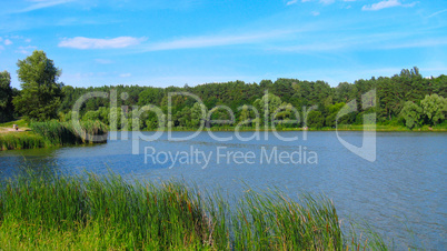
<path fill-rule="evenodd" d="M 173 137 L 188 134 L 175 132 Z M 301 191 L 325 193 L 342 219 L 366 220 L 394 239 L 398 249 L 447 248 L 447 133 L 378 132 L 377 160 L 372 163 L 342 147 L 335 132 L 308 132 L 306 141 L 302 132 L 280 133 L 299 137 L 291 142 L 278 140 L 272 133 L 268 133 L 268 140 L 261 133 L 261 140 L 248 142 L 236 139 L 232 132 L 215 134 L 234 139 L 217 142 L 203 132 L 192 140 L 171 142 L 165 133 L 155 142 L 139 141 L 140 154 L 132 154 L 132 134 L 100 145 L 3 151 L 0 173 L 6 177 L 23 164 L 44 164 L 61 172 L 106 173 L 111 169 L 140 180 L 185 179 L 199 188 L 219 189 L 236 197 L 246 185 L 275 185 L 295 198 Z M 246 138 L 251 134 L 241 133 Z M 361 132 L 340 135 L 361 144 Z M 150 147 L 148 154 L 145 147 Z M 177 161 L 165 153 L 178 154 Z M 239 164 L 245 161 L 242 154 L 248 162 Z"/>

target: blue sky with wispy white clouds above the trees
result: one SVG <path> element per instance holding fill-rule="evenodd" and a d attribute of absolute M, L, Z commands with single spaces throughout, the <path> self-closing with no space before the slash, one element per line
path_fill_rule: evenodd
<path fill-rule="evenodd" d="M 3 0 L 0 70 L 43 50 L 73 87 L 447 73 L 447 2 Z"/>

